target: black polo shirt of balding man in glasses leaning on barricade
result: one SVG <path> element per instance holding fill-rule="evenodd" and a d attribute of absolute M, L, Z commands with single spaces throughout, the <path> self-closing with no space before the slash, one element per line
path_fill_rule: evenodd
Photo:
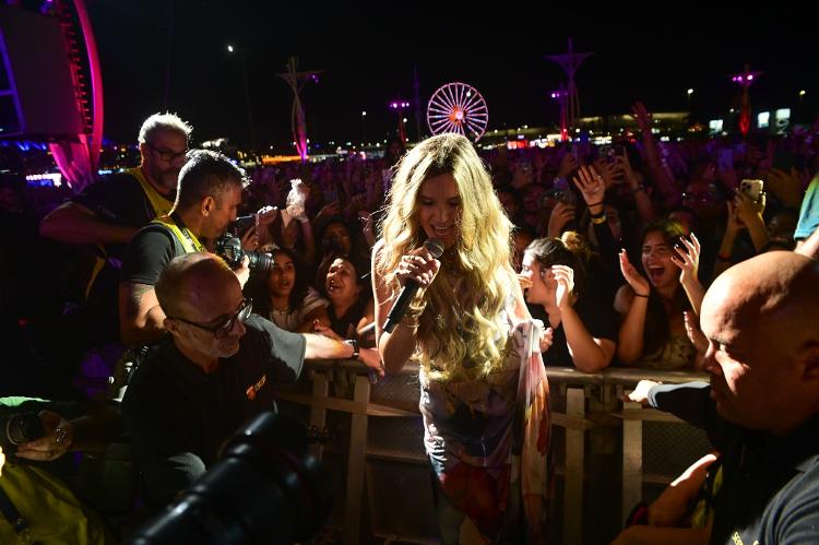
<path fill-rule="evenodd" d="M 273 382 L 293 381 L 305 362 L 304 335 L 252 315 L 239 352 L 212 374 L 166 337 L 134 372 L 122 400 L 149 499 L 169 500 L 216 461 L 219 446 L 250 417 L 273 407 Z"/>

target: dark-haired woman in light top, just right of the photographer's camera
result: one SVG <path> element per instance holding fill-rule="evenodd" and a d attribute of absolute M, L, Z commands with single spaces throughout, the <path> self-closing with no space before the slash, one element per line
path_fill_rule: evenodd
<path fill-rule="evenodd" d="M 253 297 L 253 312 L 280 328 L 308 333 L 316 323 L 329 325 L 329 303 L 310 286 L 298 256 L 288 248 L 271 252 L 273 266 L 263 276 L 251 277 L 247 292 Z"/>

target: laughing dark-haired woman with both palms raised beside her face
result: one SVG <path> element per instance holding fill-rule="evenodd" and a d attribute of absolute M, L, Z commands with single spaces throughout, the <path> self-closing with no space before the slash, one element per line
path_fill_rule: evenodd
<path fill-rule="evenodd" d="M 627 285 L 615 297 L 622 321 L 617 356 L 628 366 L 655 369 L 697 367 L 697 348 L 687 329 L 697 327 L 704 288 L 697 280 L 700 242 L 674 220 L 645 227 L 642 236 L 642 272 L 620 251 L 620 270 Z M 685 316 L 684 316 L 685 315 Z"/>

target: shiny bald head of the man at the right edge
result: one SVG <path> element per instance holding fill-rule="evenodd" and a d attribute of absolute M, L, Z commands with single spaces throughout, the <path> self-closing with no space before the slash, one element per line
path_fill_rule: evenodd
<path fill-rule="evenodd" d="M 819 413 L 819 263 L 794 252 L 757 256 L 709 288 L 700 322 L 720 414 L 787 435 Z"/>

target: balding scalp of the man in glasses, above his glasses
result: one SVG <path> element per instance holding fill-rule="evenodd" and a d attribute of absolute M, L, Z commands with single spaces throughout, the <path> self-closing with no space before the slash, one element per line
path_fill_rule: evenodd
<path fill-rule="evenodd" d="M 201 308 L 211 294 L 238 282 L 222 258 L 194 252 L 171 260 L 159 274 L 155 291 L 166 316 L 182 316 L 190 308 Z"/>

